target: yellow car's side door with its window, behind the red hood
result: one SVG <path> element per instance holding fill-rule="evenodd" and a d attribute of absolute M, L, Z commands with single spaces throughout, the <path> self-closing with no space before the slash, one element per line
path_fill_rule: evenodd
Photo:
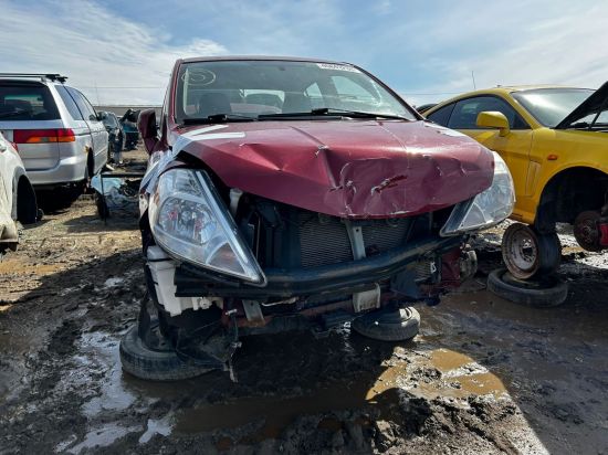
<path fill-rule="evenodd" d="M 497 129 L 479 127 L 476 119 L 482 112 L 504 114 L 511 130 L 505 136 L 501 136 Z M 513 176 L 516 197 L 526 195 L 533 130 L 511 105 L 493 95 L 461 99 L 454 103 L 448 127 L 458 129 L 501 155 Z"/>

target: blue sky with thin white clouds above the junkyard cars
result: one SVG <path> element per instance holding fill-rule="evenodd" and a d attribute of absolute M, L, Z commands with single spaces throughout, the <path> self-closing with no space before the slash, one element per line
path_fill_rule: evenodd
<path fill-rule="evenodd" d="M 472 72 L 478 88 L 608 80 L 605 1 L 0 0 L 0 72 L 65 73 L 93 103 L 160 103 L 176 59 L 216 54 L 353 62 L 412 104 L 472 89 Z"/>

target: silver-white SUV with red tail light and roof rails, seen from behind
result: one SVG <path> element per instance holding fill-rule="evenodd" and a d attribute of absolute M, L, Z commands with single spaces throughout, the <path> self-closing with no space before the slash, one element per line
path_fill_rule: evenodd
<path fill-rule="evenodd" d="M 86 182 L 107 162 L 107 131 L 59 74 L 0 74 L 0 133 L 36 189 Z"/>

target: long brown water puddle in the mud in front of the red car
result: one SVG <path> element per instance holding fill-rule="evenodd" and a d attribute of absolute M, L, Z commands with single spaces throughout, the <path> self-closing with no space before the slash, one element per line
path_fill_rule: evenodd
<path fill-rule="evenodd" d="M 417 375 L 417 371 L 429 374 Z M 465 399 L 472 394 L 483 394 L 500 398 L 506 393 L 502 381 L 470 357 L 437 349 L 408 356 L 407 362 L 392 358 L 385 362 L 380 373 L 366 374 L 349 383 L 319 387 L 311 394 L 244 398 L 182 410 L 176 414 L 172 430 L 193 434 L 252 425 L 256 430 L 239 441 L 247 444 L 276 438 L 302 415 L 374 408 L 380 419 L 390 420 L 408 396 L 431 400 L 437 396 Z M 342 422 L 324 419 L 319 425 L 324 428 L 340 427 Z M 220 441 L 218 444 L 221 448 L 228 443 Z"/>

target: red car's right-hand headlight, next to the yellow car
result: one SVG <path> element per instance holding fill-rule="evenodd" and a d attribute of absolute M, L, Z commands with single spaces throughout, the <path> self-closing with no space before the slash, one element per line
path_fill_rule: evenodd
<path fill-rule="evenodd" d="M 499 224 L 513 212 L 515 190 L 513 179 L 504 160 L 494 154 L 494 179 L 492 186 L 473 199 L 458 204 L 440 235 L 457 235 L 468 231 L 479 231 Z"/>

